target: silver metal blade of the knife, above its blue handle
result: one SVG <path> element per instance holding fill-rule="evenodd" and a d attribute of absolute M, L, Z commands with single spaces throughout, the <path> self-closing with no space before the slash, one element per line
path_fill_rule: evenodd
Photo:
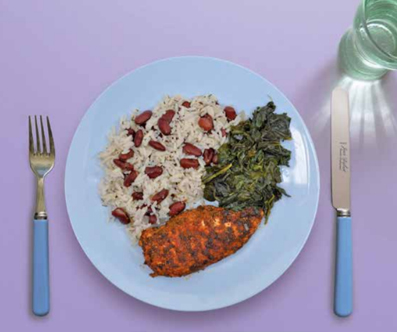
<path fill-rule="evenodd" d="M 335 88 L 331 100 L 332 205 L 350 215 L 350 120 L 349 95 Z"/>

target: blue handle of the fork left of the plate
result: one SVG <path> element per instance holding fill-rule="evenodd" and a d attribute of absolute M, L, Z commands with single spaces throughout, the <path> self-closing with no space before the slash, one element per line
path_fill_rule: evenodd
<path fill-rule="evenodd" d="M 50 311 L 48 265 L 48 220 L 33 220 L 33 313 L 45 316 Z"/>

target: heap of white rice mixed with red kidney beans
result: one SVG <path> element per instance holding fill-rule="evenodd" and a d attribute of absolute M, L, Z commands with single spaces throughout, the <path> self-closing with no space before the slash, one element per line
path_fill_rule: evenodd
<path fill-rule="evenodd" d="M 127 224 L 134 242 L 144 229 L 164 224 L 175 211 L 204 204 L 201 178 L 208 164 L 207 152 L 216 152 L 227 141 L 230 127 L 244 120 L 244 113 L 229 116 L 229 109 L 219 105 L 214 95 L 191 100 L 167 96 L 151 112 L 144 112 L 147 116 L 150 113 L 150 118 L 143 124 L 136 123 L 142 122 L 142 113 L 135 110 L 129 118 L 121 119 L 118 130 L 112 129 L 109 143 L 99 156 L 105 172 L 99 192 L 114 217 L 125 214 L 118 219 Z M 171 121 L 169 114 L 173 114 Z M 205 130 L 208 118 L 212 120 L 211 130 Z M 159 128 L 165 119 L 170 133 Z M 143 137 L 136 144 L 140 140 L 138 131 Z M 204 156 L 186 154 L 187 143 L 199 148 Z M 181 160 L 185 159 L 190 161 L 182 162 L 182 167 Z M 212 162 L 216 162 L 214 158 Z M 160 175 L 154 172 L 159 167 Z"/>

